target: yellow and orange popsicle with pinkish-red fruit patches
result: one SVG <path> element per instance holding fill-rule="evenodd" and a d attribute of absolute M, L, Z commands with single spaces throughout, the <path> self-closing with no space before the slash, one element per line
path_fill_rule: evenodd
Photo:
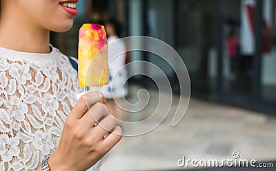
<path fill-rule="evenodd" d="M 109 83 L 106 31 L 99 24 L 83 24 L 79 30 L 79 86 Z"/>

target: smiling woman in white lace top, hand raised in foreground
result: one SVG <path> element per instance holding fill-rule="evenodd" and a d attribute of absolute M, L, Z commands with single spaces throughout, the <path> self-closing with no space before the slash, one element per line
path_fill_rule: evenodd
<path fill-rule="evenodd" d="M 77 1 L 0 2 L 0 170 L 99 170 L 121 128 L 101 93 L 77 101 L 77 71 L 50 45 L 50 31 L 72 27 Z"/>

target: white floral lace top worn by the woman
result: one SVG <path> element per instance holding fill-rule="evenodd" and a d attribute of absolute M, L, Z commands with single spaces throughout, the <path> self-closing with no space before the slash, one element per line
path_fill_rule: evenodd
<path fill-rule="evenodd" d="M 77 71 L 55 47 L 50 54 L 0 47 L 0 170 L 36 170 L 57 148 L 81 91 Z"/>

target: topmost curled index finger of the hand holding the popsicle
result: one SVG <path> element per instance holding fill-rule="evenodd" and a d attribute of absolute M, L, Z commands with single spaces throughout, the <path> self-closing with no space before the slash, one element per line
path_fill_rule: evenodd
<path fill-rule="evenodd" d="M 84 95 L 81 95 L 81 98 L 77 101 L 77 104 L 72 109 L 71 113 L 77 119 L 80 119 L 86 111 L 97 102 L 106 103 L 106 98 L 104 98 L 103 93 L 99 91 L 90 91 Z"/>

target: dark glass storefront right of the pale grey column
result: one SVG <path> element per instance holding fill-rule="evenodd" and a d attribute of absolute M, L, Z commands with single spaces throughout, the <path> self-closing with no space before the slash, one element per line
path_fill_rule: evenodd
<path fill-rule="evenodd" d="M 275 0 L 141 3 L 146 35 L 181 55 L 194 97 L 275 114 Z"/>

